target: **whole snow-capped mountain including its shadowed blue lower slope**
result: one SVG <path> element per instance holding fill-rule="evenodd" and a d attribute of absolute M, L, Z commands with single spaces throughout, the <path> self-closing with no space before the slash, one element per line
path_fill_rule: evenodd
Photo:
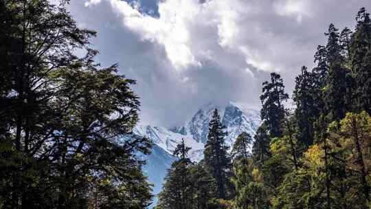
<path fill-rule="evenodd" d="M 209 122 L 214 109 L 218 109 L 221 115 L 222 124 L 228 133 L 225 142 L 229 147 L 233 146 L 236 137 L 244 131 L 251 136 L 255 135 L 261 123 L 259 111 L 238 102 L 229 102 L 225 107 L 217 107 L 213 104 L 202 107 L 184 126 L 172 129 L 150 125 L 135 128 L 136 135 L 148 137 L 155 144 L 153 153 L 146 156 L 147 164 L 144 166 L 148 179 L 155 184 L 155 194 L 161 190 L 166 170 L 175 160 L 172 152 L 182 139 L 187 146 L 192 148 L 190 158 L 193 161 L 199 162 L 203 159 L 203 150 L 209 133 Z"/>

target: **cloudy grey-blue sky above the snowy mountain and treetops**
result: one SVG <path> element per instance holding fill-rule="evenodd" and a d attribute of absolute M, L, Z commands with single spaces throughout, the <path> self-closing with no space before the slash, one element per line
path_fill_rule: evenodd
<path fill-rule="evenodd" d="M 292 95 L 330 23 L 353 29 L 370 0 L 74 0 L 103 67 L 137 81 L 141 124 L 179 126 L 210 102 L 260 108 L 270 72 Z"/>

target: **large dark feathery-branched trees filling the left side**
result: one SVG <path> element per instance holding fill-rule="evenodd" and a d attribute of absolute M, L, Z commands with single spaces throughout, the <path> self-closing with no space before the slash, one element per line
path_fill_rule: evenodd
<path fill-rule="evenodd" d="M 54 2 L 0 2 L 0 208 L 146 208 L 135 82 Z"/>

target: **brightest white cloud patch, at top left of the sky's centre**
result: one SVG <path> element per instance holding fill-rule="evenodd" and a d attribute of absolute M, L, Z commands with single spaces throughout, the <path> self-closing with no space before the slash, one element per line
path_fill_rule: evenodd
<path fill-rule="evenodd" d="M 187 28 L 189 17 L 196 12 L 193 1 L 167 1 L 160 3 L 159 19 L 141 14 L 125 1 L 111 0 L 111 6 L 122 16 L 124 25 L 142 35 L 146 41 L 156 41 L 164 45 L 169 60 L 175 69 L 184 69 L 188 65 L 201 65 L 192 53 Z M 182 8 L 175 10 L 175 8 Z"/>

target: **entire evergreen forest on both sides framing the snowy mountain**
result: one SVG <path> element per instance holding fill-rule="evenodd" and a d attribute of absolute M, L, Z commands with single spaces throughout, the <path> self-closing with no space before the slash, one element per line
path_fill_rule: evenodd
<path fill-rule="evenodd" d="M 136 81 L 56 2 L 0 0 L 0 208 L 148 208 Z M 215 109 L 200 162 L 177 144 L 156 209 L 371 208 L 370 14 L 324 36 L 292 93 L 262 83 L 255 135 L 227 146 Z"/>

